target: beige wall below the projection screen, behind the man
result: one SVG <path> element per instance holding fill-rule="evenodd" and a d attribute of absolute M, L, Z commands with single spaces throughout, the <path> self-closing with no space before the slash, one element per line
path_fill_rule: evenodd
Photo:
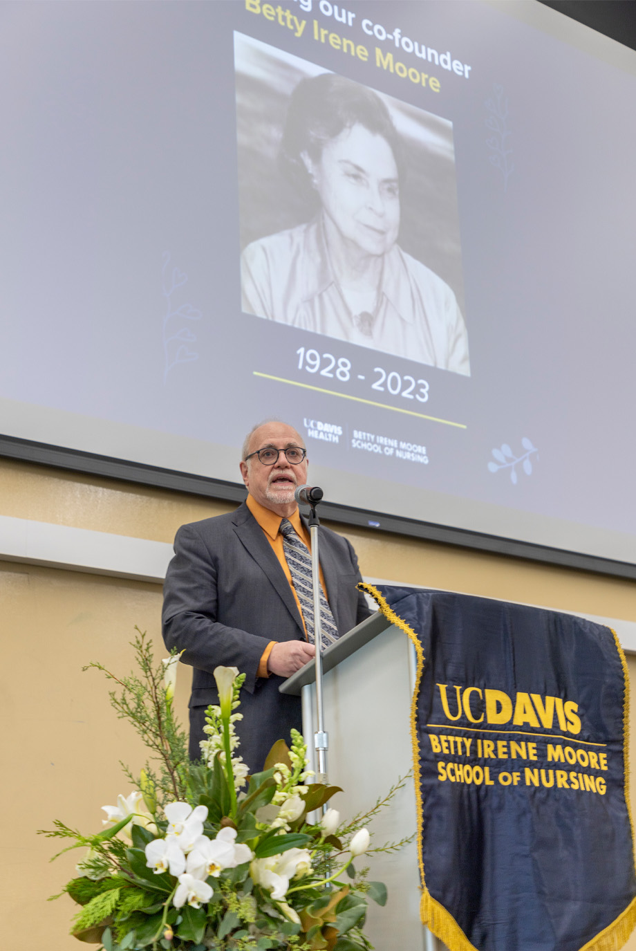
<path fill-rule="evenodd" d="M 231 508 L 0 459 L 0 515 L 170 542 L 183 522 Z M 347 528 L 341 534 L 356 547 L 366 576 L 636 621 L 635 582 L 371 530 Z M 142 747 L 109 707 L 104 676 L 81 668 L 96 660 L 116 673 L 128 672 L 135 625 L 148 631 L 157 656 L 163 656 L 161 599 L 159 585 L 0 561 L 5 725 L 0 894 L 8 947 L 79 947 L 67 937 L 72 902 L 65 896 L 43 903 L 71 876 L 76 853 L 48 864 L 55 842 L 34 833 L 50 828 L 56 818 L 85 831 L 97 829 L 100 807 L 114 805 L 119 792 L 129 791 L 118 763 L 124 760 L 137 771 Z M 633 675 L 636 659 L 628 662 Z M 187 692 L 183 677 L 177 691 L 183 717 Z M 631 722 L 633 746 L 633 715 Z M 636 763 L 636 748 L 631 760 Z M 626 947 L 636 951 L 636 938 Z"/>

